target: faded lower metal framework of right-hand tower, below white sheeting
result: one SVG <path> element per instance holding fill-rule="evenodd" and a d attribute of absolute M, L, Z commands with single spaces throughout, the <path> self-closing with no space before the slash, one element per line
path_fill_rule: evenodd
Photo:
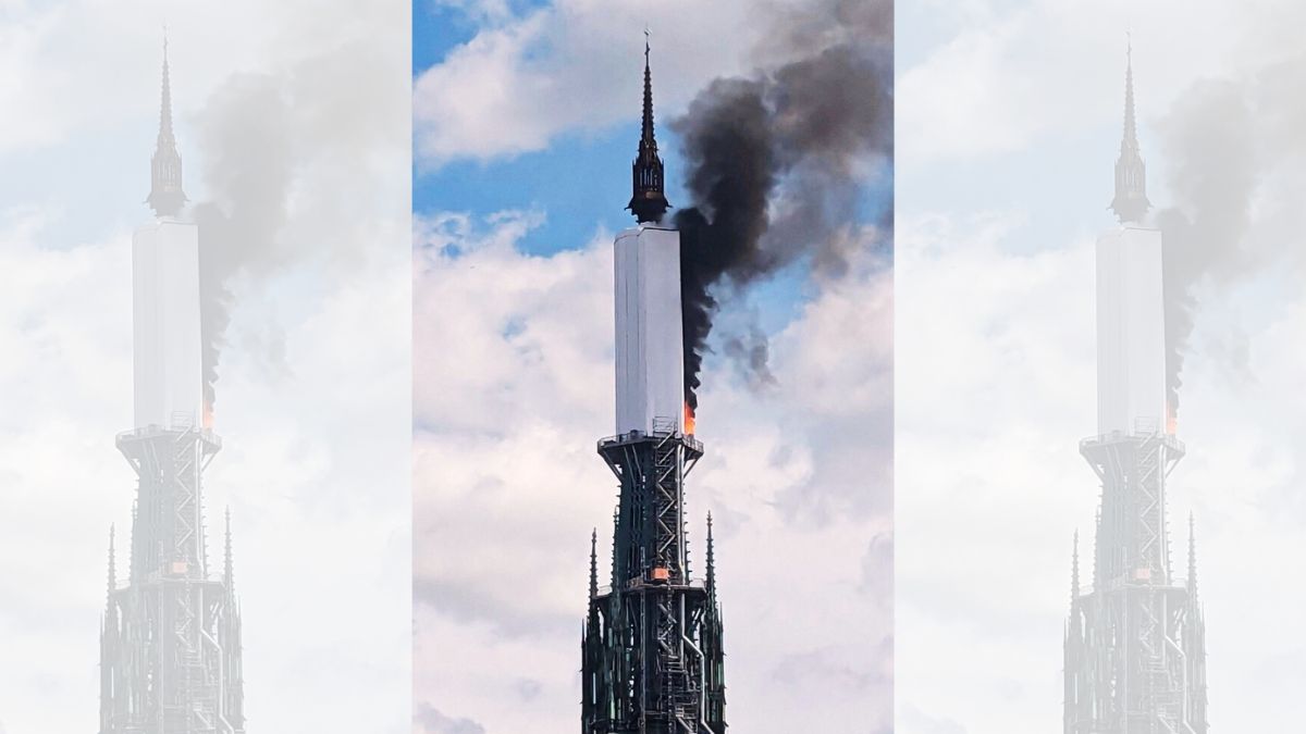
<path fill-rule="evenodd" d="M 1139 427 L 1080 443 L 1102 490 L 1093 585 L 1072 564 L 1066 734 L 1207 734 L 1205 624 L 1190 532 L 1188 579 L 1171 576 L 1166 479 L 1185 455 Z M 1077 545 L 1077 538 L 1076 538 Z"/>

